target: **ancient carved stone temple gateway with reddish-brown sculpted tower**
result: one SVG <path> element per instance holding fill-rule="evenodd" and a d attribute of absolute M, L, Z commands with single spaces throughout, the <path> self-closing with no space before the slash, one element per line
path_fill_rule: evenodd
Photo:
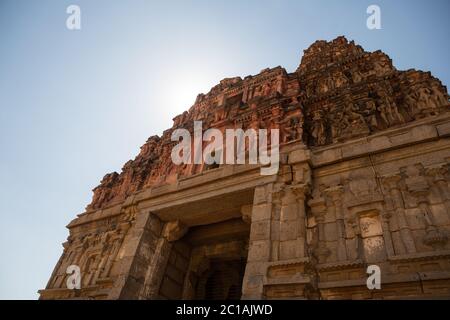
<path fill-rule="evenodd" d="M 429 72 L 344 37 L 293 73 L 224 79 L 103 178 L 41 299 L 450 297 L 449 111 Z M 194 120 L 279 129 L 278 173 L 175 165 L 171 133 Z"/>

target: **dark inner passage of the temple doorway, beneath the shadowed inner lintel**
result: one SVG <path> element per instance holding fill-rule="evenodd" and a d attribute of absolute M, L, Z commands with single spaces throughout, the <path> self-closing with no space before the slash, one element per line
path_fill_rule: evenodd
<path fill-rule="evenodd" d="M 183 299 L 240 299 L 250 226 L 242 219 L 192 228 L 181 241 L 191 248 Z"/>

